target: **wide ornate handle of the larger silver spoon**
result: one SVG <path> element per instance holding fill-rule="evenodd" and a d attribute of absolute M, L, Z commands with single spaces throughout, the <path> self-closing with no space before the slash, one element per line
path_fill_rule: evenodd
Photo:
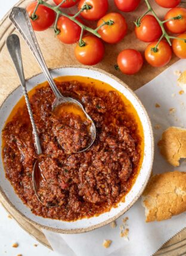
<path fill-rule="evenodd" d="M 57 100 L 63 98 L 63 95 L 61 95 L 60 91 L 54 83 L 54 80 L 52 79 L 51 74 L 49 73 L 47 64 L 45 63 L 44 57 L 39 48 L 35 33 L 33 32 L 32 24 L 30 23 L 30 17 L 27 14 L 27 11 L 20 7 L 14 7 L 10 13 L 10 20 L 21 33 L 24 41 L 29 46 L 30 50 L 38 61 L 39 66 L 41 67 L 42 72 L 44 72 L 44 75 L 46 76 Z"/>

